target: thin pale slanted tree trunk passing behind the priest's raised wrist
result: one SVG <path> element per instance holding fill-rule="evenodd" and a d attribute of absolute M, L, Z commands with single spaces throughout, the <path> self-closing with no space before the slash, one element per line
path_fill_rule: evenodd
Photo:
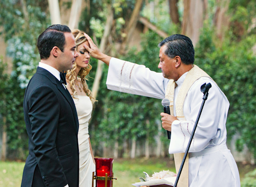
<path fill-rule="evenodd" d="M 112 10 L 112 7 L 110 4 L 108 5 L 108 10 L 109 10 L 109 15 L 107 16 L 107 19 L 106 19 L 105 30 L 104 30 L 103 36 L 100 41 L 100 46 L 99 46 L 99 50 L 102 53 L 104 53 L 104 51 L 105 51 L 106 41 L 110 34 L 111 26 L 112 26 L 112 22 L 113 22 L 113 18 L 114 18 L 113 10 Z M 94 78 L 93 88 L 92 88 L 92 95 L 94 98 L 97 97 L 97 93 L 98 93 L 98 89 L 99 89 L 99 83 L 100 83 L 100 79 L 102 76 L 102 65 L 103 65 L 103 62 L 98 60 L 96 75 Z"/>

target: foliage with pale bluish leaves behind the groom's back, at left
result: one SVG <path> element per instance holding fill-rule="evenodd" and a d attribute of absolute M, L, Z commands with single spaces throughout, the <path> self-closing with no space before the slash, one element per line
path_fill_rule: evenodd
<path fill-rule="evenodd" d="M 44 1 L 1 0 L 1 35 L 7 42 L 7 55 L 12 57 L 13 71 L 1 79 L 1 114 L 6 117 L 8 158 L 26 159 L 28 137 L 23 114 L 25 88 L 40 60 L 37 37 L 50 26 Z M 1 61 L 2 67 L 5 67 Z M 2 74 L 1 74 L 2 75 Z M 2 122 L 2 120 L 1 120 Z"/>

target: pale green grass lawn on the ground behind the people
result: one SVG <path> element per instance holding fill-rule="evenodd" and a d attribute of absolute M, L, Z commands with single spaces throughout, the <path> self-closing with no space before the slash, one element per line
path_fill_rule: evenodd
<path fill-rule="evenodd" d="M 19 187 L 22 181 L 22 173 L 25 162 L 1 162 L 0 161 L 0 186 Z M 256 166 L 243 165 L 238 163 L 241 180 L 244 174 L 252 171 Z M 139 182 L 139 177 L 144 178 L 144 172 L 152 175 L 154 172 L 170 170 L 175 172 L 174 162 L 169 158 L 136 158 L 136 159 L 115 159 L 113 162 L 113 173 L 117 180 L 115 187 L 132 187 L 132 183 Z"/>

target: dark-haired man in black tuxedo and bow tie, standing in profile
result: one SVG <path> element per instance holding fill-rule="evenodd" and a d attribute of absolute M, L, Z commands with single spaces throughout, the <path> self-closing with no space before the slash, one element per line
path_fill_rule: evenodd
<path fill-rule="evenodd" d="M 67 26 L 47 28 L 37 41 L 41 61 L 25 92 L 29 155 L 22 187 L 77 187 L 78 118 L 62 71 L 72 68 L 75 38 Z"/>

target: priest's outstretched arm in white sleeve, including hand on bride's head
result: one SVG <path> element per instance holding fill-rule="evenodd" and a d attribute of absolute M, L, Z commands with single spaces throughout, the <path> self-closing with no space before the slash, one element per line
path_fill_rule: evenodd
<path fill-rule="evenodd" d="M 90 36 L 85 33 L 84 36 L 90 45 L 84 45 L 84 48 L 89 51 L 91 57 L 109 65 L 106 80 L 108 89 L 157 99 L 165 98 L 165 87 L 169 80 L 165 79 L 162 73 L 150 71 L 144 65 L 105 55 L 99 51 Z"/>

